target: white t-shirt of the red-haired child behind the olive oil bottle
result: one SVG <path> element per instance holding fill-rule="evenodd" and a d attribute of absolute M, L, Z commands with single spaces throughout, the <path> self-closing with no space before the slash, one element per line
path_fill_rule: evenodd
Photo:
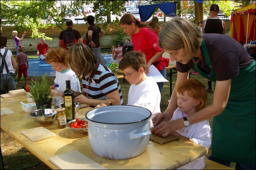
<path fill-rule="evenodd" d="M 80 81 L 74 71 L 67 69 L 65 71 L 56 71 L 55 84 L 59 84 L 59 89 L 63 92 L 66 90 L 66 80 L 70 80 L 70 88 L 73 91 L 81 92 Z"/>

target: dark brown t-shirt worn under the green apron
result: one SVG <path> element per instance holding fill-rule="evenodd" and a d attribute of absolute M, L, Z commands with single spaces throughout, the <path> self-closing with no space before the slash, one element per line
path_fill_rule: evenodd
<path fill-rule="evenodd" d="M 240 68 L 244 68 L 254 61 L 243 46 L 228 35 L 203 34 L 203 38 L 218 81 L 236 77 Z M 197 65 L 206 73 L 210 73 L 203 54 Z M 194 69 L 192 60 L 187 64 L 176 62 L 176 69 L 182 73 L 186 73 L 191 68 Z"/>

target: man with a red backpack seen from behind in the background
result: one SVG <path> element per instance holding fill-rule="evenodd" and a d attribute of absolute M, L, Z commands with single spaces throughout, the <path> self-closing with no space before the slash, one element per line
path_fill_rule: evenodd
<path fill-rule="evenodd" d="M 76 29 L 72 29 L 73 22 L 68 19 L 66 21 L 67 29 L 61 31 L 59 34 L 59 47 L 64 49 L 69 49 L 70 46 L 76 44 L 77 42 L 83 42 L 81 34 Z"/>

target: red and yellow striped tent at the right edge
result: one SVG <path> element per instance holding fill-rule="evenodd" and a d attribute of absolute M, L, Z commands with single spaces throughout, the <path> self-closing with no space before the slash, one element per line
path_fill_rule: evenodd
<path fill-rule="evenodd" d="M 231 14 L 230 37 L 241 44 L 246 42 L 246 38 L 255 40 L 255 4 L 237 9 Z"/>

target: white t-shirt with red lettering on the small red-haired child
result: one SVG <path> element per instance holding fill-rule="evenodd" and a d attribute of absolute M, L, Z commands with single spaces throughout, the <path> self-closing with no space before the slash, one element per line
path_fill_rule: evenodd
<path fill-rule="evenodd" d="M 177 108 L 171 120 L 180 119 L 187 116 L 186 113 L 182 112 Z M 204 120 L 195 124 L 191 124 L 188 127 L 183 127 L 176 130 L 180 135 L 193 139 L 193 142 L 200 144 L 206 148 L 210 148 L 211 145 L 211 126 L 208 120 Z M 192 161 L 184 166 L 177 169 L 204 169 L 205 167 L 205 156 L 202 156 L 195 161 Z"/>

